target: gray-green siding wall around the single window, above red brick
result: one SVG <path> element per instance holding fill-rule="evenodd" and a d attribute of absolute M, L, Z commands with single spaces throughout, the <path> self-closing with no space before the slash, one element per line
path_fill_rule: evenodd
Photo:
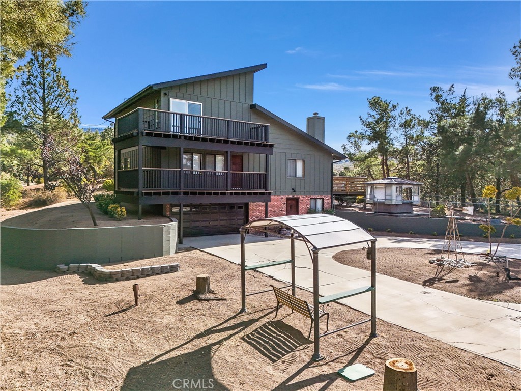
<path fill-rule="evenodd" d="M 251 120 L 269 124 L 269 141 L 275 143 L 269 162 L 272 196 L 330 196 L 331 153 L 275 121 L 252 111 Z M 288 178 L 288 159 L 305 161 L 304 178 Z M 295 193 L 291 189 L 295 189 Z"/>

